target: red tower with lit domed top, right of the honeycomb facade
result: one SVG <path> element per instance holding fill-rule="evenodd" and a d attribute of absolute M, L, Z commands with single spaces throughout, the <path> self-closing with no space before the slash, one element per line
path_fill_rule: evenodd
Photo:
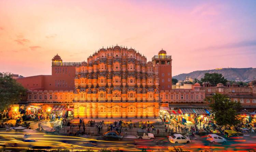
<path fill-rule="evenodd" d="M 160 50 L 158 55 L 152 58 L 155 71 L 158 72 L 159 89 L 172 89 L 172 56 L 167 56 L 165 50 Z"/>

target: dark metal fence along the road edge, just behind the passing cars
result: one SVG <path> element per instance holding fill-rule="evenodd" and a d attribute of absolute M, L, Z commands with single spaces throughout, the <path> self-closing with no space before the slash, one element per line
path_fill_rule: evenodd
<path fill-rule="evenodd" d="M 56 127 L 55 128 L 55 133 L 56 134 L 68 134 L 68 132 L 70 132 L 72 135 L 76 134 L 78 131 L 78 133 L 81 134 L 90 134 L 90 135 L 102 135 L 103 133 L 109 131 L 107 129 L 102 129 L 99 130 L 97 128 L 85 128 L 83 129 L 82 127 L 79 129 L 79 127 Z M 127 131 L 125 131 L 124 129 L 120 130 L 121 133 L 123 133 L 124 135 L 133 135 L 136 136 L 137 135 L 137 130 L 136 129 L 128 129 Z M 166 132 L 165 130 L 159 130 L 159 132 L 157 131 L 151 131 L 148 133 L 152 133 L 155 136 L 168 136 L 170 134 L 170 132 Z"/>

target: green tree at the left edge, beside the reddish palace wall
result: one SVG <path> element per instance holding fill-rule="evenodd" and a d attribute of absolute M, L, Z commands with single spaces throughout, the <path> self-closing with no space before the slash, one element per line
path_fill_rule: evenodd
<path fill-rule="evenodd" d="M 16 82 L 10 73 L 0 73 L 0 110 L 6 109 L 12 104 L 20 101 L 21 95 L 26 89 Z"/>

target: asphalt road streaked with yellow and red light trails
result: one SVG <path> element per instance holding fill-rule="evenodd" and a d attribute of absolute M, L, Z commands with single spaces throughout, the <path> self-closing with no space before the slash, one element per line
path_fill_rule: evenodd
<path fill-rule="evenodd" d="M 24 136 L 29 134 L 29 136 Z M 26 138 L 26 140 L 24 140 Z M 139 140 L 123 138 L 122 140 L 105 140 L 101 136 L 63 136 L 51 135 L 38 132 L 6 132 L 0 131 L 0 145 L 5 145 L 6 150 L 21 151 L 28 148 L 49 148 L 49 149 L 70 149 L 70 150 L 99 150 L 120 149 L 124 151 L 141 151 L 146 148 L 148 151 L 170 151 L 175 148 L 182 148 L 190 151 L 248 151 L 256 150 L 256 136 L 227 139 L 226 143 L 211 144 L 206 136 L 196 136 L 188 144 L 170 143 L 167 137 L 157 137 L 154 140 Z"/>

